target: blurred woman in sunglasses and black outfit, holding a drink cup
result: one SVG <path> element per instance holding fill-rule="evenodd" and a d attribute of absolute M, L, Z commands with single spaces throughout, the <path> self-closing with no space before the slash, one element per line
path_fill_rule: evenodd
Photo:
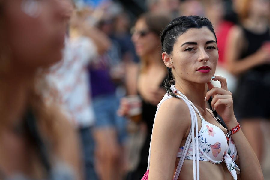
<path fill-rule="evenodd" d="M 137 91 L 142 98 L 142 122 L 146 124 L 146 140 L 140 152 L 137 169 L 130 179 L 140 179 L 145 173 L 149 144 L 157 105 L 166 93 L 162 83 L 167 76 L 166 67 L 161 59 L 160 34 L 170 19 L 164 15 L 146 13 L 140 16 L 135 24 L 132 41 L 136 54 L 140 58 L 140 72 L 137 80 Z M 121 101 L 120 115 L 127 115 L 128 104 L 125 98 Z"/>

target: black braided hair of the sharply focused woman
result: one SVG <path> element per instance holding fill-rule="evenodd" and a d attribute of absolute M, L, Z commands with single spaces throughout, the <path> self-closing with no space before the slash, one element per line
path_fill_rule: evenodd
<path fill-rule="evenodd" d="M 207 18 L 199 16 L 181 16 L 173 19 L 161 33 L 162 52 L 170 54 L 173 51 L 173 45 L 180 35 L 187 32 L 190 28 L 202 27 L 207 27 L 211 32 L 213 32 L 217 41 L 213 25 Z M 168 77 L 164 81 L 164 87 L 170 95 L 178 98 L 170 88 L 172 84 L 175 85 L 172 68 L 167 67 L 167 69 Z"/>

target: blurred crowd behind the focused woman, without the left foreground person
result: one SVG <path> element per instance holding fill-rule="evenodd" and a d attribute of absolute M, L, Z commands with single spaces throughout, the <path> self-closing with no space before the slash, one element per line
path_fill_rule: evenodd
<path fill-rule="evenodd" d="M 270 179 L 269 0 L 58 1 L 69 3 L 70 16 L 62 60 L 45 72 L 46 101 L 57 100 L 78 134 L 84 179 L 143 177 L 166 93 L 160 34 L 172 19 L 190 15 L 214 26 L 215 75 L 226 77 L 241 128 Z M 40 10 L 35 0 L 20 7 L 33 18 Z"/>

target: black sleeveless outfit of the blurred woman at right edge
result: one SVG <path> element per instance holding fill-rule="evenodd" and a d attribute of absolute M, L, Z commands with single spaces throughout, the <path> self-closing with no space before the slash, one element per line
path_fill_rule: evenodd
<path fill-rule="evenodd" d="M 255 34 L 245 28 L 243 28 L 243 32 L 247 47 L 241 52 L 240 59 L 256 52 L 263 43 L 270 42 L 269 28 L 261 34 Z M 233 98 L 235 99 L 235 113 L 238 119 L 269 119 L 270 64 L 261 64 L 242 73 Z"/>

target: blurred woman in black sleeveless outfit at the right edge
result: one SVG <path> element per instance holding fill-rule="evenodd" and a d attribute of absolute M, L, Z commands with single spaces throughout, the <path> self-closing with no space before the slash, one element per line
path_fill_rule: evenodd
<path fill-rule="evenodd" d="M 228 70 L 238 76 L 235 114 L 262 161 L 262 123 L 266 129 L 270 127 L 270 1 L 239 0 L 234 4 L 240 24 L 229 32 L 225 55 Z"/>

